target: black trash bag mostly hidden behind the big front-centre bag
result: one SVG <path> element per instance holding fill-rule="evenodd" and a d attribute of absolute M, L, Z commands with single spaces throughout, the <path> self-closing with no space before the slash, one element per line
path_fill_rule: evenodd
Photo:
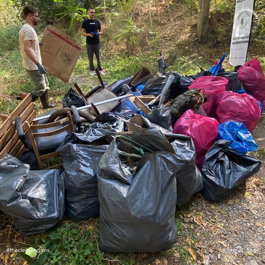
<path fill-rule="evenodd" d="M 129 131 L 151 134 L 158 139 L 169 141 L 178 158 L 185 163 L 179 168 L 177 177 L 177 206 L 186 203 L 193 194 L 203 189 L 203 177 L 195 165 L 196 152 L 191 137 L 175 134 L 150 123 L 145 117 L 138 115 L 128 123 Z M 141 127 L 140 127 L 141 126 Z"/>

